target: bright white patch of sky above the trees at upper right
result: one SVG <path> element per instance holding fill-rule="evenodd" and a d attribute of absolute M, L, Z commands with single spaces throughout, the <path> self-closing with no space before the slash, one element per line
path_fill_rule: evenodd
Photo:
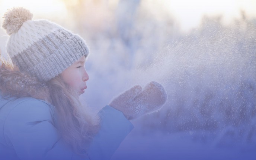
<path fill-rule="evenodd" d="M 221 15 L 224 24 L 230 23 L 234 18 L 240 18 L 242 10 L 248 16 L 256 16 L 255 0 L 163 0 L 161 2 L 185 31 L 197 27 L 204 15 Z"/>

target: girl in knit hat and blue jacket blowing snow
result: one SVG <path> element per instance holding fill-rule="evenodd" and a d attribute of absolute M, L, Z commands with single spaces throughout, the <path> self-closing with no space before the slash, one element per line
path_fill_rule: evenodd
<path fill-rule="evenodd" d="M 167 96 L 151 82 L 134 86 L 92 117 L 79 102 L 89 49 L 71 31 L 32 20 L 23 8 L 4 14 L 12 64 L 0 67 L 0 157 L 8 160 L 110 159 L 132 130 L 128 121 L 159 109 Z"/>

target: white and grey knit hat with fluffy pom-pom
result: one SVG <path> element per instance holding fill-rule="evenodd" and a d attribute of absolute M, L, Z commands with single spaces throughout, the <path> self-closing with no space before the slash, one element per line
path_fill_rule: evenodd
<path fill-rule="evenodd" d="M 48 20 L 32 20 L 29 10 L 18 7 L 8 10 L 3 28 L 10 35 L 7 53 L 20 71 L 48 81 L 71 66 L 89 48 L 77 34 Z"/>

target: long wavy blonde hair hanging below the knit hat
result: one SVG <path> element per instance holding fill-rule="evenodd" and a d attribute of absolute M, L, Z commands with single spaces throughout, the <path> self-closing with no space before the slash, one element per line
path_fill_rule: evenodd
<path fill-rule="evenodd" d="M 86 150 L 84 144 L 88 144 L 98 129 L 99 120 L 91 117 L 82 107 L 79 96 L 70 86 L 64 83 L 61 75 L 58 75 L 47 83 L 51 104 L 56 107 L 59 115 L 58 130 L 63 139 L 70 142 L 70 145 L 77 153 Z"/>

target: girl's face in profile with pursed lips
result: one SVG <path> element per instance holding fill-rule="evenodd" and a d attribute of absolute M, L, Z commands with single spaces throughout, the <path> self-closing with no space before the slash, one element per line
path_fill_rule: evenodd
<path fill-rule="evenodd" d="M 89 80 L 84 63 L 85 57 L 82 56 L 61 73 L 64 82 L 73 87 L 79 95 L 84 93 L 84 90 L 87 88 L 86 81 Z"/>

